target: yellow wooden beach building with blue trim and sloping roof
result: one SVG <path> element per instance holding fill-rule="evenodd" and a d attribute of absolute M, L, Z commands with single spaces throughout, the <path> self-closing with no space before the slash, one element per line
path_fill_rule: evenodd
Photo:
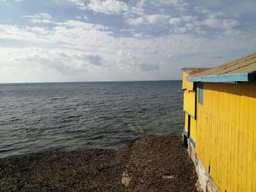
<path fill-rule="evenodd" d="M 183 72 L 184 142 L 201 187 L 256 191 L 256 53 Z"/>

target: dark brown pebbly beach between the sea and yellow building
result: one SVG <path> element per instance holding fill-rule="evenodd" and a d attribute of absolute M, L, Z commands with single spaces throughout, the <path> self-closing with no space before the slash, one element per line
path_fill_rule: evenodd
<path fill-rule="evenodd" d="M 0 159 L 0 191 L 197 191 L 196 182 L 181 137 Z"/>

